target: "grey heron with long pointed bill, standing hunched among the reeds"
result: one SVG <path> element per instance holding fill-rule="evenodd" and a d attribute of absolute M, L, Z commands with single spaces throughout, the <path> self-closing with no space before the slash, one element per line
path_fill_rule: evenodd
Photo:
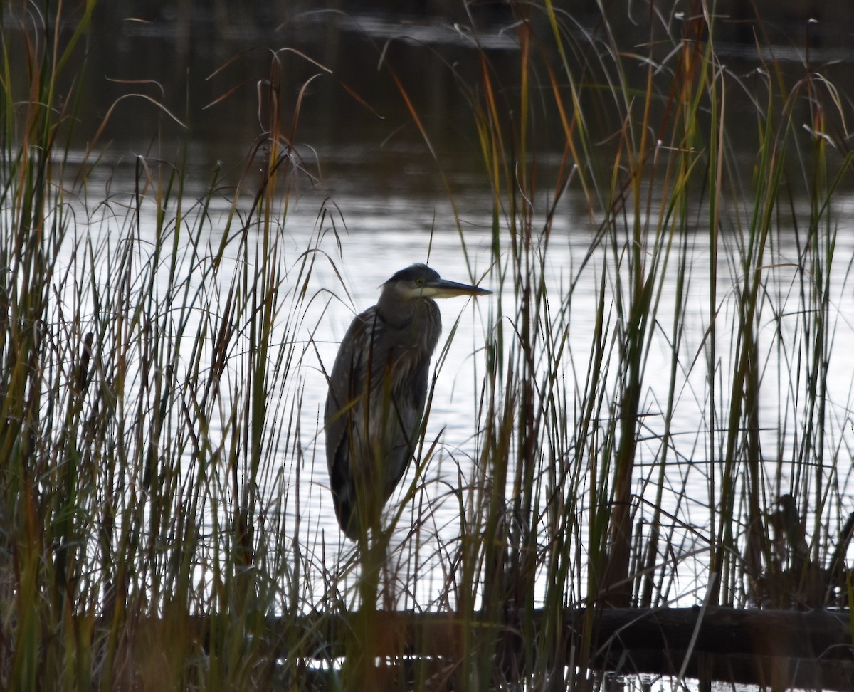
<path fill-rule="evenodd" d="M 440 279 L 413 264 L 386 281 L 379 302 L 350 325 L 326 397 L 326 463 L 342 530 L 376 528 L 418 442 L 430 357 L 442 333 L 431 298 L 492 291 Z"/>

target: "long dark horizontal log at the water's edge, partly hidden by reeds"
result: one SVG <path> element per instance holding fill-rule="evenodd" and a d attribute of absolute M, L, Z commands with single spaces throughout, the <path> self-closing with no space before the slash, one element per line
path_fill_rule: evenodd
<path fill-rule="evenodd" d="M 587 613 L 583 608 L 563 613 L 563 636 L 567 648 L 578 646 Z M 511 641 L 510 654 L 521 652 L 522 615 L 496 621 L 483 614 L 461 617 L 454 613 L 372 613 L 375 617 L 377 655 L 398 660 L 407 658 L 459 661 L 472 647 L 500 648 Z M 227 616 L 216 618 L 222 625 Z M 547 613 L 535 611 L 532 625 L 534 655 L 536 637 Z M 190 637 L 207 648 L 212 619 L 184 619 Z M 220 626 L 222 626 L 220 625 Z M 137 636 L 170 625 L 161 619 L 137 621 Z M 287 642 L 299 641 L 303 658 L 334 660 L 343 648 L 348 616 L 320 613 L 312 616 L 269 618 L 268 641 L 280 642 L 275 654 L 293 654 Z M 854 646 L 850 613 L 816 609 L 808 612 L 741 610 L 727 607 L 606 608 L 594 613 L 594 644 L 589 667 L 617 675 L 656 674 L 704 677 L 725 683 L 805 689 L 854 689 Z M 153 637 L 154 640 L 158 638 Z M 515 644 L 515 649 L 513 648 Z M 545 647 L 548 648 L 548 645 Z M 529 647 L 530 649 L 530 647 Z M 505 649 L 504 654 L 507 654 Z M 577 659 L 575 659 L 577 660 Z M 527 667 L 533 661 L 527 661 Z"/>

